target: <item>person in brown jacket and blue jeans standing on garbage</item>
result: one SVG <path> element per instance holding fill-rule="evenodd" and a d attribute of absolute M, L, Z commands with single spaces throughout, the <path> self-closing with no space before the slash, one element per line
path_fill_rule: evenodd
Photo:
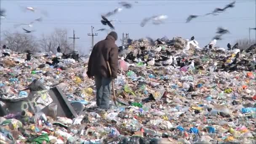
<path fill-rule="evenodd" d="M 96 104 L 101 109 L 109 109 L 111 81 L 117 78 L 118 47 L 115 44 L 117 33 L 110 32 L 105 40 L 96 43 L 88 62 L 87 75 L 94 76 L 96 84 Z M 107 62 L 111 69 L 108 70 Z"/>

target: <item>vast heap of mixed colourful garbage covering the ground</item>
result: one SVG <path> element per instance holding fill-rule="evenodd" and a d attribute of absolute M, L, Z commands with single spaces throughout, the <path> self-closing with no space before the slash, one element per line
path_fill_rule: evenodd
<path fill-rule="evenodd" d="M 164 37 L 119 52 L 117 106 L 104 111 L 88 59 L 32 53 L 26 61 L 1 50 L 0 143 L 256 143 L 255 45 L 227 51 Z"/>

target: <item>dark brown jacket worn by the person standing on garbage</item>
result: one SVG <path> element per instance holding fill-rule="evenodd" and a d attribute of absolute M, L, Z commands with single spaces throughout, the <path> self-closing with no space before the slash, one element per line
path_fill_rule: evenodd
<path fill-rule="evenodd" d="M 115 38 L 108 35 L 105 40 L 101 40 L 94 45 L 88 62 L 87 75 L 110 77 L 107 67 L 109 61 L 112 78 L 117 78 L 118 71 L 118 47 Z"/>

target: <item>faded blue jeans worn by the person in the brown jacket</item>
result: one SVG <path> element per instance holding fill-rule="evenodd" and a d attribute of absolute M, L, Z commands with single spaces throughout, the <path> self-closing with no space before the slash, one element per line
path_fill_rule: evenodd
<path fill-rule="evenodd" d="M 95 76 L 96 104 L 101 109 L 109 109 L 111 78 Z"/>

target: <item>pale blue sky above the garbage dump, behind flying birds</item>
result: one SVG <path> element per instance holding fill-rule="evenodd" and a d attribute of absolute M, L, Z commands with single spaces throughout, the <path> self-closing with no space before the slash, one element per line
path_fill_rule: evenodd
<path fill-rule="evenodd" d="M 42 22 L 34 24 L 32 29 L 37 37 L 53 32 L 53 29 L 66 28 L 68 36 L 72 37 L 73 29 L 76 36 L 76 48 L 85 53 L 91 47 L 91 25 L 96 29 L 107 28 L 100 22 L 100 15 L 119 7 L 120 0 L 1 0 L 0 7 L 7 10 L 8 19 L 1 19 L 3 30 L 20 31 L 21 27 L 14 28 L 17 23 L 29 23 L 38 18 L 40 13 L 24 12 L 20 6 L 31 6 L 48 11 L 49 16 Z M 224 35 L 224 40 L 218 41 L 217 46 L 226 47 L 227 43 L 234 43 L 236 39 L 248 38 L 248 27 L 256 27 L 256 0 L 237 0 L 234 8 L 229 8 L 219 16 L 204 16 L 185 23 L 189 14 L 205 14 L 216 7 L 223 8 L 232 0 L 126 0 L 133 4 L 131 9 L 124 9 L 120 13 L 109 17 L 118 19 L 122 23 L 115 24 L 118 39 L 123 32 L 128 32 L 131 39 L 152 37 L 154 39 L 167 36 L 172 38 L 181 36 L 189 39 L 192 35 L 199 42 L 200 47 L 207 45 L 216 34 L 219 26 L 229 29 L 231 34 Z M 155 14 L 168 15 L 168 20 L 162 25 L 147 24 L 140 27 L 142 19 Z M 26 26 L 24 26 L 26 27 Z M 27 28 L 27 27 L 26 27 Z M 95 42 L 106 37 L 106 32 L 98 32 Z M 251 39 L 256 38 L 255 30 L 251 30 Z M 72 39 L 70 39 L 72 42 Z M 117 44 L 121 42 L 118 41 Z"/>

